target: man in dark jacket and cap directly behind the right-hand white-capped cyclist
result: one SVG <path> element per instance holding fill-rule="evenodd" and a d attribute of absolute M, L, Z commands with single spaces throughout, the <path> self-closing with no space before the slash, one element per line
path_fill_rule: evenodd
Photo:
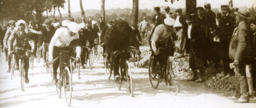
<path fill-rule="evenodd" d="M 164 14 L 160 13 L 160 7 L 155 7 L 154 11 L 155 11 L 156 14 L 154 15 L 154 18 L 152 20 L 153 20 L 153 23 L 154 23 L 155 27 L 153 28 L 153 30 L 151 32 L 151 35 L 149 37 L 149 40 L 148 40 L 150 47 L 151 47 L 151 44 L 150 44 L 151 41 L 150 40 L 152 38 L 152 35 L 153 35 L 154 31 L 155 31 L 156 26 L 158 26 L 160 24 L 164 24 L 164 19 L 165 19 Z"/>

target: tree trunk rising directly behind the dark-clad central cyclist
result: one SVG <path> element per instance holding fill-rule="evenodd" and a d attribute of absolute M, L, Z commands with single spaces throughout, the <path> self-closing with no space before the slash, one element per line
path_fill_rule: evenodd
<path fill-rule="evenodd" d="M 138 24 L 139 0 L 133 0 L 132 25 Z"/>

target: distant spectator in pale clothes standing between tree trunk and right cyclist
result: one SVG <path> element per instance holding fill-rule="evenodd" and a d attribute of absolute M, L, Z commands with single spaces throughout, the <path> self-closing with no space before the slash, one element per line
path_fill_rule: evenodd
<path fill-rule="evenodd" d="M 146 38 L 147 37 L 147 34 L 148 34 L 148 31 L 150 31 L 150 25 L 149 23 L 146 21 L 146 17 L 144 16 L 143 17 L 143 21 L 140 23 L 139 25 L 139 31 L 141 32 L 141 36 L 142 38 Z"/>

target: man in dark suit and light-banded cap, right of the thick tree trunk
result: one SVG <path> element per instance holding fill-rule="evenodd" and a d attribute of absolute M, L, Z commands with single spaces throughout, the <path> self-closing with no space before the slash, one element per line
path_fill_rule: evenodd
<path fill-rule="evenodd" d="M 211 4 L 210 3 L 206 3 L 205 4 L 205 23 L 206 24 L 216 24 L 216 14 L 211 10 Z M 204 28 L 202 28 L 204 29 Z M 206 53 L 209 52 L 210 50 L 210 29 L 209 26 L 206 25 L 205 26 L 205 40 L 204 40 L 204 46 L 205 46 L 205 51 Z M 207 65 L 207 60 L 210 61 L 211 59 L 208 58 L 211 56 L 204 56 L 204 64 Z"/>

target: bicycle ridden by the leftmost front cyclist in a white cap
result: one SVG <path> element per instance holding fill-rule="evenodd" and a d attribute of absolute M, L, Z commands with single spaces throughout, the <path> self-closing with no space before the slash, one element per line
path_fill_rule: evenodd
<path fill-rule="evenodd" d="M 17 47 L 17 49 L 13 50 L 10 52 L 10 54 L 13 55 L 14 51 L 17 51 L 17 50 L 20 50 L 19 52 L 22 52 L 22 51 L 28 51 L 30 53 L 32 53 L 30 50 L 28 49 L 25 49 L 24 47 Z M 17 55 L 17 58 L 19 60 L 19 74 L 20 74 L 20 85 L 21 85 L 21 90 L 24 91 L 24 82 L 25 82 L 25 70 L 24 70 L 24 56 L 26 56 L 25 54 L 16 54 Z M 13 56 L 13 59 L 14 59 L 14 56 Z M 14 63 L 14 62 L 13 62 Z M 13 72 L 12 72 L 13 74 Z"/>

